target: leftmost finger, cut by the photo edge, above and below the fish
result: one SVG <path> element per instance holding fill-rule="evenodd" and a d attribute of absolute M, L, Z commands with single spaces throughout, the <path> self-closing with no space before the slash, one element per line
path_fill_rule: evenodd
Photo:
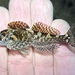
<path fill-rule="evenodd" d="M 0 31 L 7 28 L 8 21 L 8 10 L 0 7 Z M 0 47 L 0 74 L 7 75 L 7 50 L 5 47 Z"/>

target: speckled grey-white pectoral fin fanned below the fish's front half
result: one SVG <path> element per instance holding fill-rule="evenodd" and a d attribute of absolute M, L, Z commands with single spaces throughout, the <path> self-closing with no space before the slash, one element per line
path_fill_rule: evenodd
<path fill-rule="evenodd" d="M 9 41 L 7 48 L 10 50 L 25 50 L 27 47 L 29 47 L 29 42 L 25 41 Z"/>

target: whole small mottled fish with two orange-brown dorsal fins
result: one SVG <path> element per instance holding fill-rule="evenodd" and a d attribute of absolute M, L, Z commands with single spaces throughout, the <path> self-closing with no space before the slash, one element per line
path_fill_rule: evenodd
<path fill-rule="evenodd" d="M 26 23 L 13 21 L 8 24 L 7 29 L 0 32 L 0 46 L 23 54 L 29 52 L 29 47 L 40 52 L 52 51 L 62 42 L 75 47 L 74 30 L 75 26 L 66 34 L 60 35 L 60 31 L 42 22 L 37 22 L 30 28 Z"/>

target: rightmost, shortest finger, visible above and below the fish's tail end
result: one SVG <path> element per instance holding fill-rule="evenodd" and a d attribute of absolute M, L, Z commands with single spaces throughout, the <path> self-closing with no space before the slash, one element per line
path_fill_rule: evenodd
<path fill-rule="evenodd" d="M 61 19 L 54 20 L 52 26 L 64 35 L 69 30 L 69 24 Z M 74 75 L 75 55 L 68 48 L 67 44 L 63 44 L 58 48 L 58 52 L 54 55 L 54 74 L 55 75 Z"/>

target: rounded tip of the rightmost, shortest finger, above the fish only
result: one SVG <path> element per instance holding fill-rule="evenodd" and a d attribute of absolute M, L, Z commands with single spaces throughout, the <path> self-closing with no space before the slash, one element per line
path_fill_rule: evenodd
<path fill-rule="evenodd" d="M 66 34 L 70 28 L 69 24 L 65 20 L 62 20 L 62 19 L 54 20 L 51 26 L 59 30 L 60 35 Z"/>

